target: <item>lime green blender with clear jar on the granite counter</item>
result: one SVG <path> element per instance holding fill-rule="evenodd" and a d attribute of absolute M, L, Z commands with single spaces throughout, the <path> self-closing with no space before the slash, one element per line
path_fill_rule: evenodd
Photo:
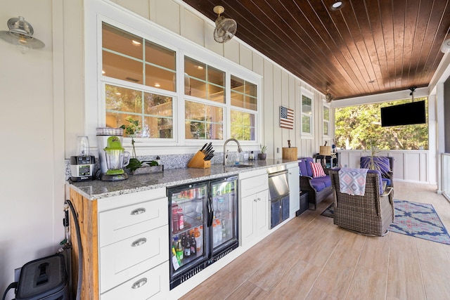
<path fill-rule="evenodd" d="M 124 167 L 129 164 L 130 154 L 122 147 L 120 138 L 110 136 L 106 142 L 105 159 L 108 171 L 101 175 L 102 181 L 121 181 L 128 178 Z"/>

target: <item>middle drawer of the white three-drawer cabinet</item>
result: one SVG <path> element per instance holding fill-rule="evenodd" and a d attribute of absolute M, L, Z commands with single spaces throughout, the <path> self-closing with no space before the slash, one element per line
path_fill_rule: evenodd
<path fill-rule="evenodd" d="M 100 248 L 100 289 L 108 291 L 169 260 L 169 227 L 134 235 Z"/>

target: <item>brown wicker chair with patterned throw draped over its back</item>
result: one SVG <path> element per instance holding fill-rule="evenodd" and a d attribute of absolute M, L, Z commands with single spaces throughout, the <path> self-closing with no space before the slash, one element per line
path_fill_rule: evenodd
<path fill-rule="evenodd" d="M 368 171 L 364 196 L 340 193 L 339 169 L 330 170 L 330 178 L 335 225 L 364 235 L 385 235 L 395 216 L 394 189 L 383 191 L 380 171 Z"/>

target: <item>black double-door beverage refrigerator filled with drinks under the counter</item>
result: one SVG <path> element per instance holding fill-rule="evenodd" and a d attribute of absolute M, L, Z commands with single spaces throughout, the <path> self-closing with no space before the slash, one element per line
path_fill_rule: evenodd
<path fill-rule="evenodd" d="M 170 289 L 239 246 L 238 177 L 167 188 Z"/>

